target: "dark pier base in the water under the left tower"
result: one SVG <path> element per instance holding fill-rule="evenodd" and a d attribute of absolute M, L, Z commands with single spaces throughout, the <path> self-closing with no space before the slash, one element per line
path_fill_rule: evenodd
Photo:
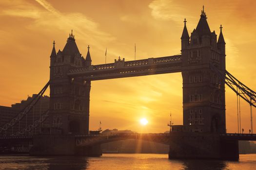
<path fill-rule="evenodd" d="M 100 145 L 76 147 L 75 137 L 70 135 L 38 135 L 33 137 L 30 155 L 83 155 L 101 156 Z"/>

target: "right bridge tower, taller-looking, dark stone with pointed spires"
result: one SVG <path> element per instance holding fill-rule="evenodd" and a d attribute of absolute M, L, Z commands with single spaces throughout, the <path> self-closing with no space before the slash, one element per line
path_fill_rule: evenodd
<path fill-rule="evenodd" d="M 181 36 L 183 129 L 185 132 L 225 133 L 225 80 L 210 68 L 214 65 L 225 73 L 222 27 L 217 41 L 204 9 L 191 37 L 186 22 L 185 19 Z"/>

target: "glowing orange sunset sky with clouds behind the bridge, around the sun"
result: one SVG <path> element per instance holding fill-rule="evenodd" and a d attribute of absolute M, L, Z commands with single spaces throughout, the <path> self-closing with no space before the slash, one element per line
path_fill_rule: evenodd
<path fill-rule="evenodd" d="M 0 105 L 38 93 L 49 79 L 52 42 L 62 51 L 70 30 L 79 51 L 90 45 L 92 63 L 126 61 L 180 53 L 183 20 L 196 28 L 202 4 L 211 31 L 223 26 L 226 68 L 256 90 L 255 0 L 1 0 Z M 47 91 L 49 94 L 49 91 Z M 172 111 L 182 124 L 181 73 L 92 82 L 90 129 L 164 132 Z M 250 128 L 249 104 L 241 102 L 242 128 Z M 254 108 L 256 131 L 256 109 Z M 141 127 L 139 119 L 149 120 Z M 236 132 L 236 94 L 226 87 L 227 132 Z M 143 129 L 144 128 L 144 129 Z"/>

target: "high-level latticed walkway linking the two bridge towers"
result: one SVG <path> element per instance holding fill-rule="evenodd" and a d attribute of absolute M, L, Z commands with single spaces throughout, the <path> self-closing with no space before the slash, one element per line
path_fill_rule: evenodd
<path fill-rule="evenodd" d="M 115 63 L 70 69 L 68 75 L 72 78 L 83 77 L 85 80 L 104 80 L 164 74 L 180 72 L 181 63 L 181 55 L 134 61 L 124 61 L 124 59 L 119 59 L 116 60 Z"/>

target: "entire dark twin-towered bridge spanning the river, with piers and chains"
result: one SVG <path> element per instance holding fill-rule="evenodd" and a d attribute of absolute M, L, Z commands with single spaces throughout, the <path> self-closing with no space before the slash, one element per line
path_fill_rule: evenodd
<path fill-rule="evenodd" d="M 169 158 L 238 159 L 238 140 L 255 140 L 252 107 L 256 92 L 226 70 L 225 40 L 211 32 L 202 10 L 197 28 L 189 36 L 186 19 L 181 35 L 181 54 L 92 65 L 90 47 L 84 58 L 73 32 L 62 51 L 55 42 L 50 55 L 50 80 L 35 99 L 15 118 L 0 128 L 0 140 L 33 136 L 31 154 L 101 154 L 100 143 L 140 138 L 170 145 Z M 91 81 L 181 72 L 183 85 L 183 125 L 173 126 L 168 135 L 89 135 Z M 50 86 L 49 110 L 30 125 L 20 127 Z M 252 134 L 226 134 L 225 85 L 250 104 Z M 40 125 L 40 134 L 33 128 Z M 18 127 L 19 128 L 18 128 Z M 24 138 L 32 139 L 32 138 Z M 75 143 L 75 144 L 74 144 Z M 82 149 L 81 149 L 82 148 Z"/>

